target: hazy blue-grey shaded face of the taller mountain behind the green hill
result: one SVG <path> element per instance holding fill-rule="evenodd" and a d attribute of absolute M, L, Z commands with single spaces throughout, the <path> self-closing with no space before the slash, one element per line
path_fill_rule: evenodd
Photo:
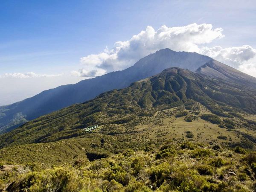
<path fill-rule="evenodd" d="M 0 133 L 10 131 L 27 120 L 93 99 L 105 91 L 128 87 L 132 82 L 153 76 L 166 68 L 180 67 L 195 71 L 210 60 L 195 52 L 162 49 L 140 59 L 126 70 L 46 90 L 32 98 L 0 107 Z"/>

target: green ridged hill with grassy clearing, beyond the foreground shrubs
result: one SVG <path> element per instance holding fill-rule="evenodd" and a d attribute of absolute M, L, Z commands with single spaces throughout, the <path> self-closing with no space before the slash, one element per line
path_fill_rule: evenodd
<path fill-rule="evenodd" d="M 167 69 L 2 135 L 0 160 L 60 164 L 166 140 L 253 149 L 255 96 L 256 90 L 249 87 L 208 79 L 189 70 Z M 84 131 L 91 125 L 100 128 Z M 102 142 L 109 146 L 102 147 Z"/>

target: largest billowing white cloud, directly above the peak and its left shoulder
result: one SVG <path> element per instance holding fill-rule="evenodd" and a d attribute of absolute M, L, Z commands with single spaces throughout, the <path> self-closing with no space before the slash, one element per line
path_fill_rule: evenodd
<path fill-rule="evenodd" d="M 111 71 L 123 70 L 140 58 L 159 49 L 170 48 L 175 51 L 200 52 L 199 46 L 223 37 L 222 29 L 213 29 L 211 24 L 162 26 L 157 30 L 148 26 L 145 31 L 134 35 L 130 40 L 116 42 L 113 49 L 106 48 L 99 54 L 81 58 L 83 68 L 73 71 L 72 75 L 94 77 Z"/>

